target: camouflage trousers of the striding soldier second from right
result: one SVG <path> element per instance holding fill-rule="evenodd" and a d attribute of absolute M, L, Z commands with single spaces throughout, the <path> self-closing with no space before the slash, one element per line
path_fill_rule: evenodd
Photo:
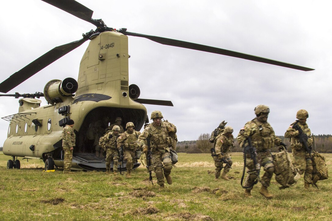
<path fill-rule="evenodd" d="M 254 161 L 250 158 L 250 154 L 246 154 L 246 158 L 246 168 L 248 169 L 248 175 L 244 186 L 250 186 L 255 182 L 257 178 L 257 172 L 255 170 Z M 270 181 L 274 172 L 273 158 L 271 157 L 270 152 L 258 152 L 257 162 L 261 167 L 264 168 L 265 171 L 264 175 L 260 178 L 260 182 L 263 186 L 270 186 Z M 248 189 L 252 189 L 252 187 Z"/>

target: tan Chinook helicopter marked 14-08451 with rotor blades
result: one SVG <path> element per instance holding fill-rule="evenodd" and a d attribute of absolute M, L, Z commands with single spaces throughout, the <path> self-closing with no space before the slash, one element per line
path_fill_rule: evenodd
<path fill-rule="evenodd" d="M 148 121 L 146 108 L 142 104 L 173 106 L 170 101 L 140 99 L 140 90 L 129 85 L 128 78 L 128 37 L 144 37 L 157 43 L 206 51 L 215 54 L 238 57 L 293 68 L 302 71 L 314 70 L 268 58 L 230 51 L 164 37 L 156 37 L 109 28 L 102 19 L 92 19 L 93 11 L 74 0 L 42 0 L 62 9 L 97 28 L 83 35 L 83 38 L 57 46 L 37 58 L 0 84 L 0 92 L 7 93 L 52 62 L 90 40 L 82 57 L 77 81 L 73 78 L 50 80 L 43 93 L 3 94 L 0 96 L 23 97 L 19 100 L 19 112 L 3 117 L 9 121 L 8 137 L 3 153 L 12 156 L 7 168 L 20 168 L 17 157 L 42 159 L 45 170 L 54 166 L 63 167 L 62 127 L 73 119 L 76 146 L 72 169 L 106 170 L 104 159 L 95 156 L 87 144 L 89 126 L 97 121 L 106 125 L 122 117 L 124 122 L 133 122 L 139 130 Z M 40 107 L 44 96 L 48 105 Z M 125 125 L 125 124 L 124 124 Z M 107 126 L 107 125 L 106 125 Z M 92 141 L 93 142 L 93 141 Z M 136 164 L 136 166 L 138 166 Z"/>

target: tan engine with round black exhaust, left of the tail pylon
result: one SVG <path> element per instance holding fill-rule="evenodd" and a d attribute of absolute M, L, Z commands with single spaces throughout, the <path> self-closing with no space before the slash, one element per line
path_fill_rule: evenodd
<path fill-rule="evenodd" d="M 63 81 L 51 80 L 44 87 L 44 97 L 48 104 L 63 102 L 63 98 L 72 97 L 78 89 L 78 83 L 74 78 L 66 78 Z"/>

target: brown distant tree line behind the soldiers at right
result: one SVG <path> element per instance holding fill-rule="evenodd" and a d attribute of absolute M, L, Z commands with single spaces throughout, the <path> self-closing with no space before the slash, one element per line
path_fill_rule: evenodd
<path fill-rule="evenodd" d="M 287 150 L 291 152 L 290 139 L 284 136 L 278 136 L 282 139 L 283 143 L 287 145 Z M 332 135 L 331 134 L 318 134 L 313 135 L 314 144 L 312 149 L 319 153 L 332 153 Z M 197 140 L 185 140 L 177 142 L 176 151 L 184 153 L 210 153 L 213 143 L 209 143 L 210 135 L 208 133 L 201 134 Z M 242 147 L 239 146 L 234 138 L 234 147 L 232 152 L 242 152 Z M 278 147 L 271 149 L 272 152 L 278 152 Z"/>

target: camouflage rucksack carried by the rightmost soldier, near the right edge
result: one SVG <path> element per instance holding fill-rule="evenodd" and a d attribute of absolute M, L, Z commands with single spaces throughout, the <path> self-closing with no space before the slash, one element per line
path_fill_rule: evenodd
<path fill-rule="evenodd" d="M 313 159 L 312 183 L 317 183 L 319 180 L 327 180 L 329 178 L 327 172 L 327 165 L 325 157 L 319 153 L 312 151 L 311 157 Z"/>

